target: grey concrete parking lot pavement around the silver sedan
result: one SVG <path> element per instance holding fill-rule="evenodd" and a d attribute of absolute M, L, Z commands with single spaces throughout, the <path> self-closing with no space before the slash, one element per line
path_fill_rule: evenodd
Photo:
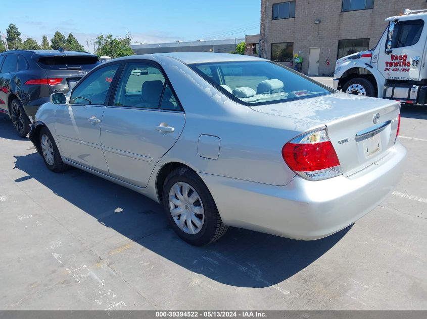
<path fill-rule="evenodd" d="M 0 115 L 0 309 L 427 309 L 427 106 L 402 109 L 400 141 L 394 194 L 347 229 L 309 242 L 230 229 L 193 247 L 159 204 L 50 172 Z"/>

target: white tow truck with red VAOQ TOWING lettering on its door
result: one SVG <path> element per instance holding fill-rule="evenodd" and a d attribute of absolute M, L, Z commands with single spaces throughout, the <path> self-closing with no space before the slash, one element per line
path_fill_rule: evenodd
<path fill-rule="evenodd" d="M 349 94 L 427 103 L 427 10 L 387 18 L 373 49 L 337 60 L 334 88 Z"/>

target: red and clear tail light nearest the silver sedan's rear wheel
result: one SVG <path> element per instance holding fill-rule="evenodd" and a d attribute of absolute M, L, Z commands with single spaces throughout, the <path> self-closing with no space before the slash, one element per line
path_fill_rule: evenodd
<path fill-rule="evenodd" d="M 326 128 L 298 136 L 283 146 L 281 154 L 286 164 L 306 179 L 321 180 L 342 174 Z"/>

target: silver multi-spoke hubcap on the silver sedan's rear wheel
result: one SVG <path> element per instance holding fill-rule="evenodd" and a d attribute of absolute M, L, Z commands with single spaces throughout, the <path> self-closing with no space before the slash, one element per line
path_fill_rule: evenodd
<path fill-rule="evenodd" d="M 170 214 L 187 234 L 197 234 L 205 222 L 203 203 L 196 190 L 185 182 L 175 183 L 169 191 Z"/>

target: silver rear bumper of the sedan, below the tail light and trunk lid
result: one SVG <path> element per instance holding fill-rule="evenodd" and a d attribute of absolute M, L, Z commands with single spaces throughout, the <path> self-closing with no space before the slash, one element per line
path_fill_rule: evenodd
<path fill-rule="evenodd" d="M 313 240 L 344 229 L 382 203 L 398 183 L 405 157 L 397 142 L 386 157 L 352 176 L 321 181 L 295 176 L 286 186 L 200 176 L 224 224 Z"/>

